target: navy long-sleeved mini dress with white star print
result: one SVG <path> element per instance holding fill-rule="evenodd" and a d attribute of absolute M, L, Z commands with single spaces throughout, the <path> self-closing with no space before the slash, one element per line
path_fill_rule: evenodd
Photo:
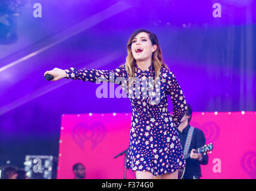
<path fill-rule="evenodd" d="M 133 82 L 134 86 L 130 89 L 127 88 L 129 87 L 127 85 L 129 76 L 125 64 L 113 70 L 77 70 L 71 67 L 65 72 L 66 79 L 113 82 L 121 85 L 126 92 L 132 104 L 127 169 L 150 171 L 153 175 L 161 175 L 185 167 L 176 127 L 185 114 L 187 104 L 175 76 L 169 69 L 161 66 L 160 78 L 156 81 L 155 89 L 151 88 L 154 91 L 150 91 L 149 88 L 153 84 L 150 84 L 149 79 L 155 76 L 153 64 L 145 71 L 139 69 L 137 65 L 135 66 L 135 76 L 141 80 L 141 83 Z M 146 86 L 142 85 L 144 82 L 146 82 Z M 141 91 L 131 93 L 136 88 Z M 167 110 L 168 96 L 173 104 L 172 115 Z"/>

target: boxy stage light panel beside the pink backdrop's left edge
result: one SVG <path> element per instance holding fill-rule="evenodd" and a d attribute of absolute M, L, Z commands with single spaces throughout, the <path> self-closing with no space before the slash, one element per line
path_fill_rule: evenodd
<path fill-rule="evenodd" d="M 24 162 L 26 175 L 30 179 L 55 179 L 57 158 L 47 155 L 26 155 Z"/>

